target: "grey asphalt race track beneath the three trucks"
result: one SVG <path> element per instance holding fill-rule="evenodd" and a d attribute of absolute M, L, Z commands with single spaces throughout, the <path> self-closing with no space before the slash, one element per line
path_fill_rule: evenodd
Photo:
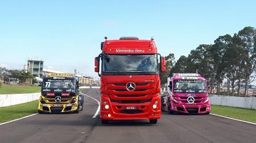
<path fill-rule="evenodd" d="M 99 89 L 83 93 L 100 101 Z M 84 97 L 79 114 L 38 114 L 0 126 L 0 142 L 256 142 L 256 125 L 214 115 L 169 115 L 157 124 L 92 118 L 98 103 Z M 1 113 L 0 113 L 1 114 Z M 15 114 L 15 113 L 14 113 Z"/>

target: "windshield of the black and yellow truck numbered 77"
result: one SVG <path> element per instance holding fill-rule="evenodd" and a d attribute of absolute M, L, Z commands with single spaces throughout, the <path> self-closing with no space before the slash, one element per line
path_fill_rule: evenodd
<path fill-rule="evenodd" d="M 42 88 L 75 89 L 75 83 L 72 80 L 44 80 Z"/>

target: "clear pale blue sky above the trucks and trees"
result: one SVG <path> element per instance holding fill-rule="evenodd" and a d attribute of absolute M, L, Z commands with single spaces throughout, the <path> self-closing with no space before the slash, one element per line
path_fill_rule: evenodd
<path fill-rule="evenodd" d="M 1 1 L 0 66 L 45 67 L 97 76 L 104 37 L 155 37 L 159 53 L 188 55 L 224 34 L 256 27 L 256 1 Z"/>

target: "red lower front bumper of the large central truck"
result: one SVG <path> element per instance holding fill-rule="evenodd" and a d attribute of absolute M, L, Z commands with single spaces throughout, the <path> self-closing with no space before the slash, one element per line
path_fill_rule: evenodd
<path fill-rule="evenodd" d="M 105 109 L 104 101 L 108 102 L 109 109 Z M 152 108 L 154 102 L 158 101 L 156 109 Z M 125 106 L 138 106 L 138 111 L 131 110 L 130 113 L 122 112 Z M 122 113 L 121 113 L 122 112 Z M 101 119 L 104 120 L 143 120 L 143 119 L 160 119 L 161 118 L 161 104 L 160 97 L 156 96 L 152 98 L 151 102 L 145 103 L 116 103 L 110 102 L 109 97 L 101 97 Z"/>

